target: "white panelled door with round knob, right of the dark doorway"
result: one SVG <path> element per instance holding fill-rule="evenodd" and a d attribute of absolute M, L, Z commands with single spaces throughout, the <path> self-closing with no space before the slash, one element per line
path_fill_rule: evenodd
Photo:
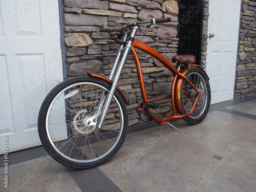
<path fill-rule="evenodd" d="M 206 71 L 211 104 L 232 100 L 236 78 L 241 0 L 209 1 Z"/>

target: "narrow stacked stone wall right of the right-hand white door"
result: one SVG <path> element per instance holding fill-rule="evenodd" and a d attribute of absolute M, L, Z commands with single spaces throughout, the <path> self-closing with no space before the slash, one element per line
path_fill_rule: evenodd
<path fill-rule="evenodd" d="M 242 0 L 236 99 L 256 93 L 256 0 Z"/>

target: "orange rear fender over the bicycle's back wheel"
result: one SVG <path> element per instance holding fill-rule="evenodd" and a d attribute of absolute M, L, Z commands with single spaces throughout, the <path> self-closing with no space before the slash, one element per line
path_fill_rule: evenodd
<path fill-rule="evenodd" d="M 201 68 L 201 69 L 203 70 L 203 72 L 205 73 L 205 75 L 207 76 L 208 80 L 209 80 L 208 75 L 206 74 L 206 72 L 204 71 L 204 69 L 203 69 L 201 66 L 192 64 L 189 69 L 191 69 L 191 68 L 193 68 L 193 67 Z M 188 71 L 188 70 L 185 68 L 184 70 L 182 70 L 181 73 L 182 73 L 183 75 L 185 75 L 187 71 Z M 182 108 L 181 108 L 181 103 L 180 103 L 180 89 L 181 89 L 182 80 L 183 80 L 182 77 L 178 77 L 178 79 L 177 79 L 177 81 L 176 81 L 176 85 L 175 85 L 175 94 L 174 94 L 175 109 L 176 109 L 176 111 L 177 111 L 179 114 L 182 113 Z"/>

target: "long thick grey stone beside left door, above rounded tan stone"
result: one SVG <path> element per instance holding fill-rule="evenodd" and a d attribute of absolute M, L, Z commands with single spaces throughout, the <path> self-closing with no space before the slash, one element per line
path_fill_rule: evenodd
<path fill-rule="evenodd" d="M 107 16 L 64 13 L 65 26 L 108 26 Z"/>

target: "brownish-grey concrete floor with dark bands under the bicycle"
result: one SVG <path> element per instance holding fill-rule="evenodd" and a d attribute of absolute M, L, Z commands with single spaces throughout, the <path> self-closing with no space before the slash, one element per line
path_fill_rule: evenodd
<path fill-rule="evenodd" d="M 256 96 L 211 105 L 198 125 L 176 120 L 130 127 L 109 162 L 63 167 L 44 148 L 9 154 L 8 189 L 1 163 L 0 191 L 255 191 Z M 3 162 L 3 156 L 0 156 Z"/>

